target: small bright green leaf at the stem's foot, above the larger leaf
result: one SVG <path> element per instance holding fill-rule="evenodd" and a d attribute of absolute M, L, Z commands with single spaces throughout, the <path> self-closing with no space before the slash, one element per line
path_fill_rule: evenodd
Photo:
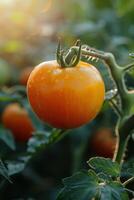
<path fill-rule="evenodd" d="M 119 164 L 109 158 L 94 157 L 87 163 L 97 173 L 102 172 L 110 177 L 118 177 L 120 175 Z"/>

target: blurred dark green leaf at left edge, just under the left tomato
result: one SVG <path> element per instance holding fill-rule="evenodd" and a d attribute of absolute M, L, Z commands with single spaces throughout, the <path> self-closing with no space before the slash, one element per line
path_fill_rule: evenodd
<path fill-rule="evenodd" d="M 12 150 L 15 150 L 14 137 L 9 130 L 0 128 L 0 140 L 2 140 Z"/>

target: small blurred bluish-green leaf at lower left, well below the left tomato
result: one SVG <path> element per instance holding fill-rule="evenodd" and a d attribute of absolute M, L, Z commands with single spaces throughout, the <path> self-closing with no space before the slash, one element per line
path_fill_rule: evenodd
<path fill-rule="evenodd" d="M 24 162 L 9 161 L 7 164 L 9 176 L 23 171 L 24 167 L 25 167 Z"/>

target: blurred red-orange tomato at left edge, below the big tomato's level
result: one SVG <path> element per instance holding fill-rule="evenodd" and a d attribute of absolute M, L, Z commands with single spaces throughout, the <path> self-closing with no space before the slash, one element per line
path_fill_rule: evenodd
<path fill-rule="evenodd" d="M 27 141 L 34 131 L 27 111 L 18 103 L 12 103 L 5 108 L 2 122 L 6 128 L 12 131 L 17 141 Z"/>

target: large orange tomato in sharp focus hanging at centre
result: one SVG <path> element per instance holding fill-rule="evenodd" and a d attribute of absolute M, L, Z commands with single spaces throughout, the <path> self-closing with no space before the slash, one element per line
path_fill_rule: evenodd
<path fill-rule="evenodd" d="M 61 67 L 57 61 L 34 68 L 27 84 L 29 102 L 44 122 L 56 128 L 76 128 L 91 121 L 104 101 L 104 82 L 99 71 L 80 61 Z"/>

